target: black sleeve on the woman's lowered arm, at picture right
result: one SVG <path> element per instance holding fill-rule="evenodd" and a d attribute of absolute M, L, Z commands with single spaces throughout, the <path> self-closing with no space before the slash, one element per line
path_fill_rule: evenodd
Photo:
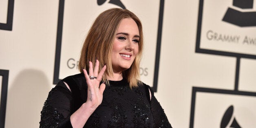
<path fill-rule="evenodd" d="M 150 88 L 150 87 L 149 87 Z M 154 127 L 155 128 L 172 128 L 171 124 L 169 123 L 166 114 L 163 111 L 160 103 L 157 101 L 156 97 L 154 97 L 154 92 L 150 88 L 151 92 L 151 113 L 154 117 Z"/>

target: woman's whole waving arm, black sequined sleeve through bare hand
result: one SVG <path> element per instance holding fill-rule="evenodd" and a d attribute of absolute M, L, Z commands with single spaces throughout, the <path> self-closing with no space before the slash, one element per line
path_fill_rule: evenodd
<path fill-rule="evenodd" d="M 90 62 L 89 64 L 91 68 L 89 69 L 89 73 L 92 73 L 90 76 L 98 76 L 97 79 L 90 79 L 87 72 L 84 70 L 86 83 L 88 84 L 88 98 L 74 113 L 72 90 L 70 90 L 67 84 L 59 82 L 57 86 L 50 91 L 41 112 L 40 128 L 82 128 L 84 126 L 90 115 L 99 104 L 101 104 L 103 91 L 105 89 L 105 84 L 101 84 L 99 87 L 99 82 L 106 70 L 106 66 L 102 68 L 98 75 L 98 70 L 96 70 L 98 64 L 99 61 L 96 62 L 95 73 L 92 73 L 92 63 Z"/>

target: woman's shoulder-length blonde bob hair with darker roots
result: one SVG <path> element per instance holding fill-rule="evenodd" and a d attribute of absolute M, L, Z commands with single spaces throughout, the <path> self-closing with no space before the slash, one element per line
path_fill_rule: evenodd
<path fill-rule="evenodd" d="M 106 71 L 102 77 L 102 80 L 109 84 L 106 76 L 113 76 L 113 68 L 111 63 L 113 43 L 119 23 L 124 18 L 132 18 L 136 22 L 139 28 L 140 36 L 138 42 L 139 52 L 130 68 L 122 73 L 123 77 L 128 80 L 130 88 L 132 88 L 141 84 L 141 81 L 139 81 L 139 64 L 143 49 L 143 32 L 142 24 L 139 18 L 127 9 L 108 9 L 99 14 L 99 16 L 95 19 L 82 47 L 81 56 L 79 59 L 79 71 L 82 73 L 83 68 L 88 71 L 88 62 L 93 62 L 94 67 L 97 59 L 99 60 L 99 69 L 106 64 Z"/>

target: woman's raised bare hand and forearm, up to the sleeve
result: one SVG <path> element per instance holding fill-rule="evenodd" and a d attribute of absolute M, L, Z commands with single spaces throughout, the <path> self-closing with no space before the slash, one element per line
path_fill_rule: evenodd
<path fill-rule="evenodd" d="M 88 85 L 87 101 L 70 116 L 70 121 L 73 128 L 82 128 L 87 119 L 94 112 L 94 110 L 102 103 L 103 91 L 106 85 L 102 83 L 102 75 L 106 70 L 106 65 L 103 66 L 99 72 L 99 60 L 96 60 L 96 64 L 93 70 L 93 63 L 89 62 L 89 74 L 85 69 L 84 76 Z"/>

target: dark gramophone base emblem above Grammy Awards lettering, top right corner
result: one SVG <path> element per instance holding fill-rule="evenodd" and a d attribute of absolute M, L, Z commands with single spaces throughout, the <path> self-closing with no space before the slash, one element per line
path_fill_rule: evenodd
<path fill-rule="evenodd" d="M 233 0 L 233 6 L 253 9 L 253 0 Z M 229 7 L 222 20 L 237 26 L 256 26 L 256 11 L 241 12 Z"/>

